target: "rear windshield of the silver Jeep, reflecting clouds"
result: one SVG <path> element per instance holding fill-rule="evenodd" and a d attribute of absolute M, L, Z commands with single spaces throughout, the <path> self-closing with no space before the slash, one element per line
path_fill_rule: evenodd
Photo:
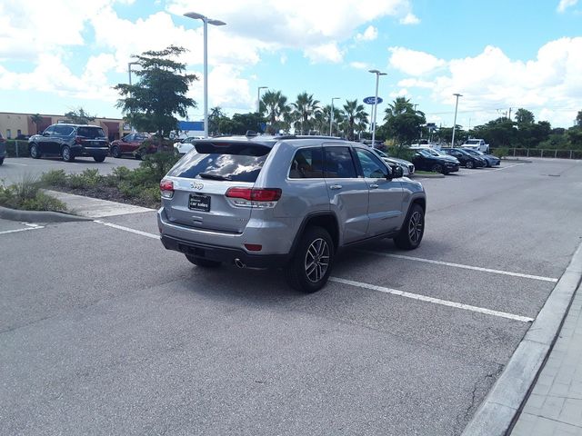
<path fill-rule="evenodd" d="M 256 182 L 271 149 L 252 143 L 195 143 L 168 174 L 187 179 Z"/>

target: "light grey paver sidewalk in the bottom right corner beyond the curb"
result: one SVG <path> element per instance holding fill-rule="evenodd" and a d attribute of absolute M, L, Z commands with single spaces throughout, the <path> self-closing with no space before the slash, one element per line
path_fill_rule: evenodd
<path fill-rule="evenodd" d="M 582 436 L 582 285 L 512 436 Z"/>

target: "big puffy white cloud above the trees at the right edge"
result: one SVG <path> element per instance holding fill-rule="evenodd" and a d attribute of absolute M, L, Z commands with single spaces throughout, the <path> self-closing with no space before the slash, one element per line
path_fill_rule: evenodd
<path fill-rule="evenodd" d="M 580 71 L 582 37 L 551 41 L 527 62 L 487 46 L 475 57 L 450 61 L 449 74 L 435 80 L 433 98 L 452 105 L 452 94 L 463 94 L 459 107 L 478 116 L 496 108 L 524 107 L 535 114 L 545 110 L 552 124 L 569 126 L 582 101 Z"/>

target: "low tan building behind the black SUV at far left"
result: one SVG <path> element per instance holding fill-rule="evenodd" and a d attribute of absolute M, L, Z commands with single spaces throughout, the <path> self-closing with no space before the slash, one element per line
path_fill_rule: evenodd
<path fill-rule="evenodd" d="M 43 132 L 51 124 L 65 123 L 65 115 L 40 114 L 38 124 L 33 123 L 35 114 L 17 114 L 0 112 L 0 133 L 6 139 L 15 139 L 19 135 L 31 136 Z M 102 127 L 110 141 L 119 139 L 131 132 L 131 127 L 118 118 L 95 118 L 90 124 Z"/>

